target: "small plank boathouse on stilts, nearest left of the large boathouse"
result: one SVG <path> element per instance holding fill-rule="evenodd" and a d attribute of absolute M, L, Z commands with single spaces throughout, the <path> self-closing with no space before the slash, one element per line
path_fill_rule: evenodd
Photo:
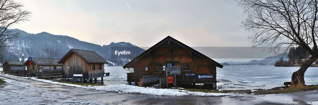
<path fill-rule="evenodd" d="M 87 82 L 87 79 L 92 82 L 93 78 L 97 82 L 99 77 L 103 80 L 104 64 L 108 62 L 96 52 L 72 48 L 58 63 L 63 64 L 63 77 L 65 80 L 67 78 L 67 81 L 73 78 L 73 74 L 79 74 L 82 75 L 84 82 Z"/>

